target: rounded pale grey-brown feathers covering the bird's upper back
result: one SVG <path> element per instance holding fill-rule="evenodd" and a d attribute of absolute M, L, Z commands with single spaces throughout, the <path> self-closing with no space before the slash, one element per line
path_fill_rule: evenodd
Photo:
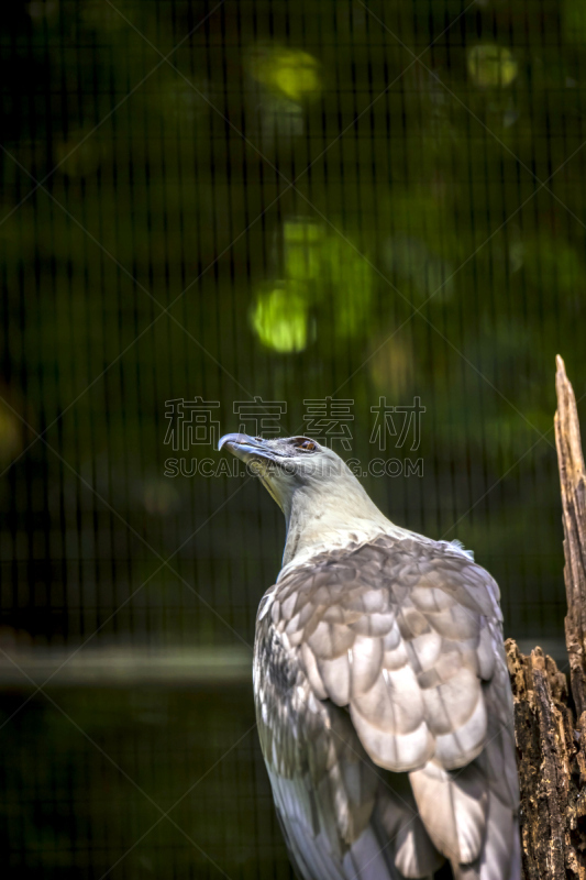
<path fill-rule="evenodd" d="M 377 765 L 412 770 L 435 757 L 453 769 L 482 751 L 498 590 L 467 557 L 413 540 L 366 544 L 343 564 L 294 570 L 277 595 L 274 625 L 301 646 L 316 695 L 350 705 Z"/>

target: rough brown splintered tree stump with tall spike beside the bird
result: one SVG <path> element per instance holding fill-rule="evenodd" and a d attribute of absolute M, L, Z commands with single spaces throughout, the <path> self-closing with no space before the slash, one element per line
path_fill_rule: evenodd
<path fill-rule="evenodd" d="M 555 442 L 564 524 L 566 678 L 541 648 L 507 641 L 526 880 L 586 880 L 586 475 L 576 400 L 556 360 Z"/>

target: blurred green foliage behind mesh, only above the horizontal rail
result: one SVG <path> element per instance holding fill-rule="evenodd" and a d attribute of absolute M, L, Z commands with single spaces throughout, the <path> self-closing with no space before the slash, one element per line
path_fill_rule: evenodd
<path fill-rule="evenodd" d="M 7 583 L 29 596 L 8 602 L 8 624 L 77 637 L 151 573 L 136 534 L 172 554 L 186 524 L 225 501 L 226 480 L 161 490 L 165 400 L 217 399 L 225 430 L 235 400 L 287 400 L 292 432 L 303 399 L 349 397 L 368 457 L 371 407 L 417 394 L 423 480 L 368 490 L 438 537 L 473 508 L 480 560 L 484 535 L 487 550 L 509 540 L 513 499 L 518 558 L 540 548 L 544 595 L 560 603 L 557 619 L 531 610 L 534 629 L 557 627 L 557 479 L 541 435 L 557 351 L 577 397 L 586 389 L 581 3 L 498 0 L 462 15 L 452 0 L 373 0 L 373 14 L 335 0 L 115 6 L 122 15 L 98 1 L 14 4 L 0 41 L 2 396 L 31 426 L 0 411 L 0 458 L 24 453 L 1 494 Z M 176 47 L 170 63 L 153 46 Z M 24 452 L 46 427 L 132 539 L 58 455 L 42 442 Z M 251 493 L 178 561 L 243 631 L 281 539 L 261 552 L 242 537 L 265 504 Z M 33 534 L 56 556 L 24 571 Z M 230 564 L 243 554 L 235 603 Z M 531 583 L 495 565 L 512 628 Z M 65 583 L 71 608 L 87 584 L 91 612 L 58 610 Z M 168 572 L 153 582 L 162 602 L 176 586 Z M 186 632 L 177 616 L 148 619 L 124 626 Z M 211 613 L 190 620 L 192 638 L 224 638 Z"/>

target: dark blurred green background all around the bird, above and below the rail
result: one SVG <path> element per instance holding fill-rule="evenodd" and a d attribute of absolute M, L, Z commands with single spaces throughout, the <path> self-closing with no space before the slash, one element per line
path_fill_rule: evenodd
<path fill-rule="evenodd" d="M 582 400 L 585 72 L 582 0 L 5 4 L 8 668 L 80 646 L 222 667 L 252 644 L 284 525 L 254 481 L 165 476 L 166 402 L 196 396 L 221 432 L 235 402 L 285 402 L 285 436 L 305 400 L 350 399 L 363 464 L 371 408 L 419 397 L 419 449 L 384 458 L 423 475 L 368 492 L 475 551 L 506 635 L 562 636 L 554 356 Z M 246 676 L 204 678 L 4 691 L 13 876 L 289 876 Z M 164 818 L 125 855 L 148 798 L 203 773 L 172 814 L 191 840 Z"/>

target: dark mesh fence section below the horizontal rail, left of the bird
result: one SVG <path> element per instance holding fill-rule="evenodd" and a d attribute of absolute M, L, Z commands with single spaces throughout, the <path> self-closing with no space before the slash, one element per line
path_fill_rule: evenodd
<path fill-rule="evenodd" d="M 292 878 L 247 691 L 53 694 L 5 728 L 7 876 Z"/>

